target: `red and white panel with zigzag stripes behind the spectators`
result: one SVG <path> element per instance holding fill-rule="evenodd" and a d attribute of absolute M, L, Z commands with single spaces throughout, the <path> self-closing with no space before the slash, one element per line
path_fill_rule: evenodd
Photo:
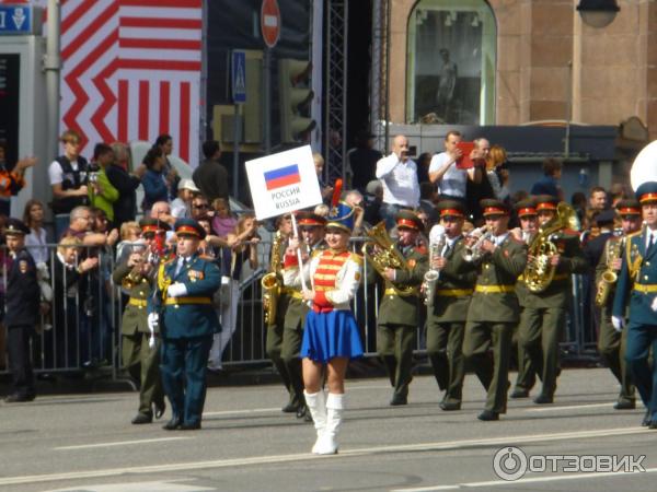
<path fill-rule="evenodd" d="M 201 0 L 65 0 L 61 129 L 99 142 L 174 139 L 198 161 Z"/>

